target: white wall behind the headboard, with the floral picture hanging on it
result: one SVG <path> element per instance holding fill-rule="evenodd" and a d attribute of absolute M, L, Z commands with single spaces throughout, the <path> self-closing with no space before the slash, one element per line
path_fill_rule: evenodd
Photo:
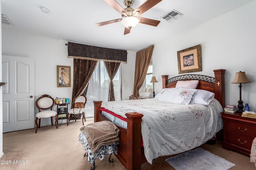
<path fill-rule="evenodd" d="M 214 18 L 198 27 L 188 29 L 172 41 L 155 44 L 153 70 L 158 83 L 155 92 L 162 89 L 161 75 L 178 76 L 177 51 L 201 44 L 202 72 L 214 76 L 212 70 L 226 69 L 226 104 L 238 104 L 239 84 L 231 84 L 235 73 L 245 71 L 252 83 L 242 84 L 242 100 L 251 111 L 256 111 L 256 1 Z M 164 68 L 164 69 L 163 69 Z M 193 73 L 191 73 L 193 74 Z"/>

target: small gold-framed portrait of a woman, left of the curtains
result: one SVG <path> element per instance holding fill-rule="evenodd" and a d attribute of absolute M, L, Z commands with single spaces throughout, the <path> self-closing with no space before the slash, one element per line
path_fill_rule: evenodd
<path fill-rule="evenodd" d="M 57 87 L 71 87 L 71 66 L 57 66 Z"/>

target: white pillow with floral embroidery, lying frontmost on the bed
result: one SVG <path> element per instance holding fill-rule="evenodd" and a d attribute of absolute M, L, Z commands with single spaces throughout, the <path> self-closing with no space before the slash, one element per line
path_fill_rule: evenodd
<path fill-rule="evenodd" d="M 164 88 L 161 93 L 156 95 L 155 99 L 161 102 L 190 104 L 190 100 L 196 91 L 197 89 Z"/>

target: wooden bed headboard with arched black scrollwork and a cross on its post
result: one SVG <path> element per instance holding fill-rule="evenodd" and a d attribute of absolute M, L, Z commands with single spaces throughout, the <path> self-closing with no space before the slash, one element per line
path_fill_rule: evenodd
<path fill-rule="evenodd" d="M 213 70 L 214 77 L 198 74 L 180 75 L 168 79 L 168 75 L 162 75 L 163 88 L 174 88 L 180 80 L 199 80 L 197 89 L 208 90 L 215 94 L 216 100 L 225 107 L 225 69 Z"/>

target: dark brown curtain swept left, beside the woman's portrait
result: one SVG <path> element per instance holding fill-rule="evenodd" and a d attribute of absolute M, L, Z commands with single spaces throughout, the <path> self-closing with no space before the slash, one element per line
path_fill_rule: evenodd
<path fill-rule="evenodd" d="M 98 64 L 94 60 L 74 59 L 74 76 L 73 76 L 73 91 L 72 91 L 72 106 L 74 108 L 75 99 L 80 96 L 92 77 L 92 74 Z"/>

